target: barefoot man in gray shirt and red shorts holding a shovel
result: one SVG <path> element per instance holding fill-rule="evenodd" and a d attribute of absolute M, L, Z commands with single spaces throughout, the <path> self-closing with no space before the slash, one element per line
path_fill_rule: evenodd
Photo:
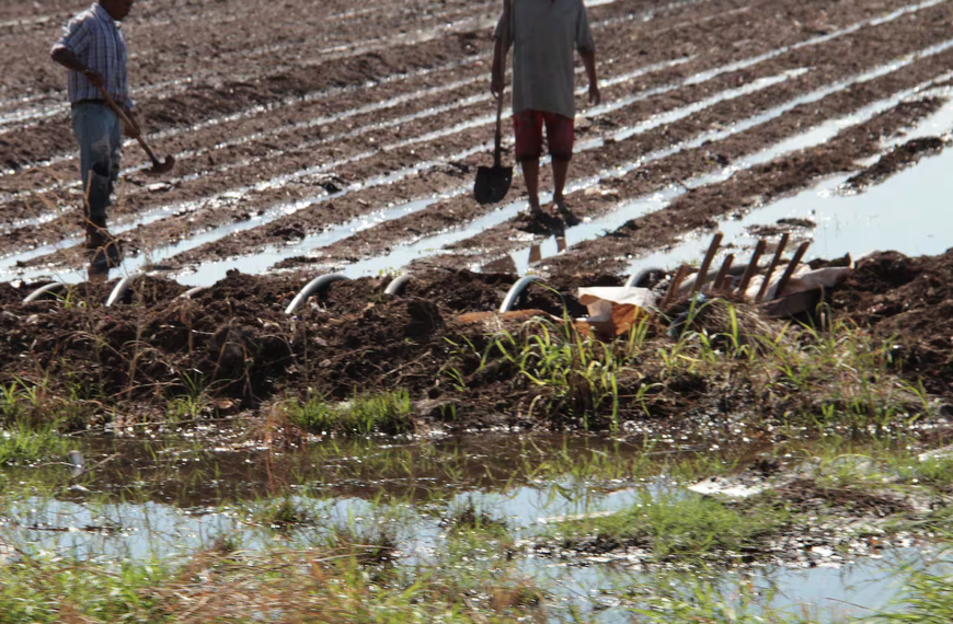
<path fill-rule="evenodd" d="M 539 159 L 546 125 L 553 169 L 553 204 L 564 216 L 569 209 L 563 189 L 573 157 L 575 72 L 573 51 L 578 50 L 589 79 L 589 104 L 598 105 L 596 44 L 583 0 L 508 0 L 509 41 L 502 41 L 503 20 L 496 26 L 496 47 L 490 90 L 503 91 L 505 68 L 500 60 L 513 46 L 513 125 L 516 161 L 529 193 L 532 217 L 542 215 L 539 205 Z M 505 12 L 504 12 L 505 15 Z M 506 46 L 506 48 L 504 48 Z"/>

